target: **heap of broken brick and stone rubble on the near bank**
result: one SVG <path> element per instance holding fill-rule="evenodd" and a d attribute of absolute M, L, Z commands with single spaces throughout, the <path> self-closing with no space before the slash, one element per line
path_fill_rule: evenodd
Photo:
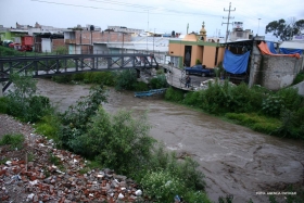
<path fill-rule="evenodd" d="M 45 137 L 28 135 L 22 149 L 1 147 L 0 202 L 142 201 L 142 191 L 126 176 L 109 168 L 86 172 L 81 156 L 55 149 Z M 56 158 L 56 165 L 50 156 Z"/>

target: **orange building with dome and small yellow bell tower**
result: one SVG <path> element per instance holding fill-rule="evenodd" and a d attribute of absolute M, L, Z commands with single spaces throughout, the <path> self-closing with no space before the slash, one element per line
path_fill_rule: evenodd
<path fill-rule="evenodd" d="M 183 39 L 169 40 L 170 61 L 178 67 L 195 65 L 198 60 L 208 68 L 223 62 L 225 47 L 219 38 L 207 38 L 204 22 L 200 35 L 187 34 Z"/>

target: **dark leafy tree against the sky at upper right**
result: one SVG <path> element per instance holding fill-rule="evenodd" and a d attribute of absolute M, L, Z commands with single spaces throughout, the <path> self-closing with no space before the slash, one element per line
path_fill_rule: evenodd
<path fill-rule="evenodd" d="M 282 41 L 291 40 L 294 35 L 301 34 L 301 30 L 304 29 L 304 20 L 295 22 L 295 18 L 292 17 L 287 23 L 284 20 L 273 21 L 270 22 L 265 29 L 265 34 L 273 33 L 277 38 L 279 37 Z"/>

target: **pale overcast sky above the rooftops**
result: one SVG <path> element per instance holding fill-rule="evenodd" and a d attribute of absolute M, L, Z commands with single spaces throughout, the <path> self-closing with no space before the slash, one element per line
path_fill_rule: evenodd
<path fill-rule="evenodd" d="M 0 25 L 34 26 L 38 22 L 67 28 L 92 24 L 101 29 L 110 25 L 186 34 L 188 23 L 191 33 L 205 22 L 207 36 L 225 36 L 227 24 L 221 23 L 228 21 L 229 2 L 236 9 L 230 22 L 243 22 L 243 28 L 254 35 L 265 35 L 265 26 L 273 21 L 304 18 L 303 0 L 0 0 Z"/>

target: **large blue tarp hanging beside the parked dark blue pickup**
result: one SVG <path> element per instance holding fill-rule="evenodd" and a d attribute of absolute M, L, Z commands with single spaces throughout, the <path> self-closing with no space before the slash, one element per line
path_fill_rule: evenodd
<path fill-rule="evenodd" d="M 246 72 L 248 60 L 249 60 L 250 51 L 244 54 L 233 54 L 228 49 L 225 50 L 224 68 L 231 74 L 242 74 Z"/>

